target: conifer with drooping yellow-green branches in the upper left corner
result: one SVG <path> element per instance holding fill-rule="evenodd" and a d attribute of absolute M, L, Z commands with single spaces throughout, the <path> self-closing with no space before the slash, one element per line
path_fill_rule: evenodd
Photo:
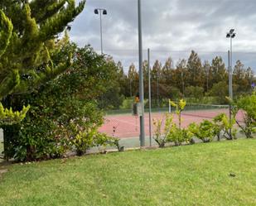
<path fill-rule="evenodd" d="M 83 10 L 85 1 L 75 0 L 0 2 L 4 30 L 0 47 L 0 98 L 10 93 L 27 93 L 54 79 L 70 65 L 67 56 L 55 65 L 51 53 L 56 36 Z M 22 20 L 22 21 L 21 21 Z"/>

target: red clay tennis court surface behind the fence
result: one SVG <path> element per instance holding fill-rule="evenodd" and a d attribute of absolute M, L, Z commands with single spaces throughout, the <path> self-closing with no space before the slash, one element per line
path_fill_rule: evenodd
<path fill-rule="evenodd" d="M 187 127 L 191 122 L 201 122 L 204 119 L 212 119 L 220 113 L 229 113 L 228 109 L 211 109 L 198 111 L 185 111 L 181 113 L 181 127 Z M 164 118 L 165 113 L 152 113 L 152 119 Z M 239 122 L 243 121 L 243 113 L 237 115 Z M 177 116 L 174 114 L 174 122 L 177 123 Z M 104 132 L 111 137 L 128 138 L 139 137 L 139 117 L 132 114 L 118 114 L 104 117 L 104 125 L 99 128 L 99 132 Z M 152 125 L 153 131 L 153 125 Z M 145 113 L 145 133 L 149 136 L 149 117 Z"/>

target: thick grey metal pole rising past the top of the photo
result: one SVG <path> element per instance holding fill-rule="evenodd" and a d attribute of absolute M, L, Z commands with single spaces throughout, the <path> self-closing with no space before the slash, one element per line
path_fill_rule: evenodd
<path fill-rule="evenodd" d="M 138 0 L 138 68 L 139 68 L 139 102 L 142 107 L 140 118 L 140 146 L 145 146 L 145 128 L 144 128 L 144 85 L 142 69 L 142 14 L 141 0 Z"/>

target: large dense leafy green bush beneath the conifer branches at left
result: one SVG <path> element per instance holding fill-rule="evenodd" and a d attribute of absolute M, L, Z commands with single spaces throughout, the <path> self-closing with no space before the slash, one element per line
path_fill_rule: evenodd
<path fill-rule="evenodd" d="M 116 67 L 113 61 L 96 54 L 89 46 L 77 48 L 67 44 L 61 54 L 65 56 L 70 50 L 75 50 L 74 63 L 64 74 L 42 85 L 38 92 L 12 98 L 12 103 L 20 99 L 30 103 L 31 109 L 20 124 L 12 126 L 12 139 L 9 139 L 12 141 L 5 150 L 7 157 L 56 158 L 73 146 L 81 148 L 80 138 L 97 135 L 97 128 L 104 122 L 97 99 L 108 90 Z M 55 56 L 53 60 L 58 58 Z M 86 146 L 90 146 L 89 142 Z"/>

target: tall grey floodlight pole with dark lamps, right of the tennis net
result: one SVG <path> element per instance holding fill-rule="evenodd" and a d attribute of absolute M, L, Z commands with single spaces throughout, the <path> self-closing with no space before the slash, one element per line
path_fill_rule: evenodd
<path fill-rule="evenodd" d="M 229 54 L 229 98 L 230 100 L 233 99 L 233 88 L 232 88 L 232 74 L 233 74 L 233 69 L 232 69 L 232 39 L 234 38 L 235 33 L 234 33 L 234 29 L 230 29 L 229 32 L 227 32 L 226 37 L 230 39 L 230 52 L 228 52 Z M 230 128 L 229 128 L 229 137 L 230 139 L 232 139 L 232 134 L 231 134 L 231 104 L 229 103 L 229 124 L 230 124 Z"/>

